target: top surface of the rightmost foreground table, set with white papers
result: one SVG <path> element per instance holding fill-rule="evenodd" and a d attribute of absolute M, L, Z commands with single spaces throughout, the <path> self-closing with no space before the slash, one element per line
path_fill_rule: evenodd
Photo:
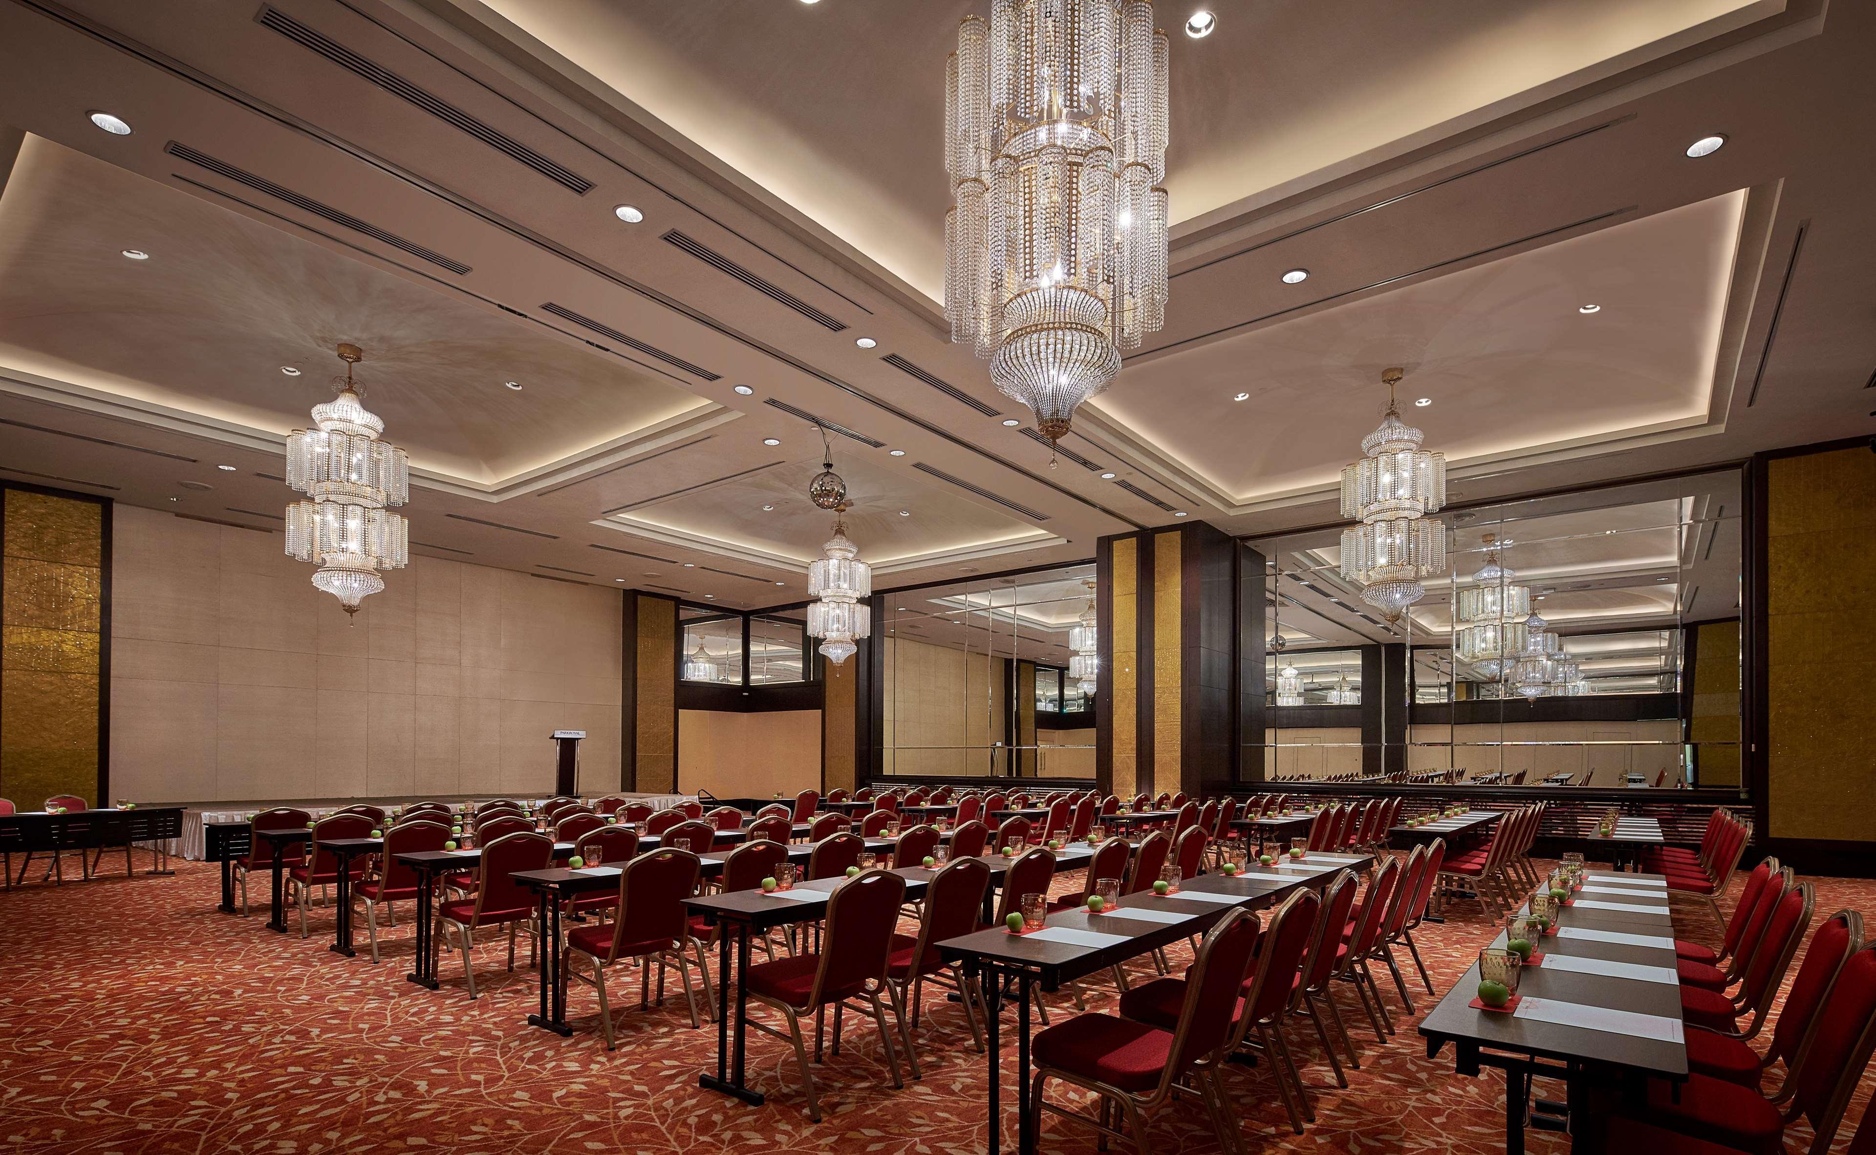
<path fill-rule="evenodd" d="M 1660 876 L 1634 874 L 1625 874 L 1623 878 L 1660 879 Z M 1598 891 L 1585 892 L 1589 887 L 1598 887 Z M 1625 894 L 1604 894 L 1600 892 L 1604 887 L 1610 891 L 1621 889 Z M 1660 913 L 1668 906 L 1666 889 L 1606 885 L 1596 881 L 1596 872 L 1591 872 L 1585 878 L 1585 891 L 1578 891 L 1572 896 L 1574 906 L 1563 909 L 1557 919 L 1557 934 L 1535 939 L 1540 952 L 1583 960 L 1587 966 L 1604 960 L 1660 968 L 1670 973 L 1675 969 L 1673 919 Z M 1628 891 L 1634 894 L 1628 896 Z M 1596 906 L 1587 906 L 1589 902 Z M 1486 945 L 1503 947 L 1505 932 L 1499 932 Z M 1636 975 L 1642 973 L 1658 971 L 1636 971 Z M 1666 1078 L 1687 1076 L 1685 1041 L 1593 1029 L 1589 1026 L 1550 1022 L 1499 1011 L 1478 1011 L 1469 1005 L 1476 994 L 1478 964 L 1475 962 L 1452 990 L 1446 992 L 1446 998 L 1420 1022 L 1420 1033 L 1431 1041 L 1454 1041 L 1490 1050 L 1598 1063 Z M 1550 1001 L 1551 1011 L 1559 1011 L 1555 1003 L 1574 1003 L 1655 1016 L 1664 1020 L 1657 1026 L 1670 1031 L 1677 1031 L 1681 1024 L 1679 982 L 1535 966 L 1521 969 L 1518 994 L 1525 999 Z M 1555 1016 L 1566 1018 L 1570 1014 L 1565 1009 Z M 1585 1012 L 1574 1012 L 1574 1016 L 1583 1022 L 1591 1018 Z"/>

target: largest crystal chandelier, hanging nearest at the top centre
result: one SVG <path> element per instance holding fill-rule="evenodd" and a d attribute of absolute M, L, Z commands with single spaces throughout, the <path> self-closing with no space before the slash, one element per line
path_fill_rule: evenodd
<path fill-rule="evenodd" d="M 946 62 L 951 339 L 1051 442 L 1165 319 L 1167 56 L 1148 0 L 992 0 Z"/>

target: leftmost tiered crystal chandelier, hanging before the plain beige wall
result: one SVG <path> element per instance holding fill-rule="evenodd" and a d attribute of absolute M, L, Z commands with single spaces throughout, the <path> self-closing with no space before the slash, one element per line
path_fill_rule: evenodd
<path fill-rule="evenodd" d="M 338 354 L 345 362 L 345 377 L 334 377 L 340 396 L 313 405 L 317 429 L 287 435 L 287 484 L 311 499 L 287 506 L 287 557 L 315 562 L 313 585 L 351 615 L 385 589 L 379 570 L 409 562 L 409 525 L 385 506 L 411 499 L 411 467 L 403 450 L 377 439 L 385 422 L 364 407 L 364 386 L 353 381 L 364 351 L 340 345 Z"/>

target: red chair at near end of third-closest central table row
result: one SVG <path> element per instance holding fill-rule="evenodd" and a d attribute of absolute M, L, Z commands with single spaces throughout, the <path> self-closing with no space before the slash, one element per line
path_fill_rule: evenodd
<path fill-rule="evenodd" d="M 606 971 L 630 958 L 638 968 L 638 1007 L 651 1005 L 651 969 L 658 971 L 658 1005 L 664 1005 L 664 973 L 677 971 L 690 1007 L 690 1026 L 698 1028 L 698 999 L 690 986 L 690 968 L 704 975 L 704 1007 L 711 1005 L 709 968 L 704 966 L 704 945 L 696 945 L 696 960 L 685 954 L 690 938 L 690 919 L 685 898 L 698 889 L 702 864 L 698 855 L 658 848 L 638 855 L 619 872 L 615 902 L 619 917 L 610 924 L 578 926 L 567 936 L 567 977 L 589 984 L 598 994 L 598 1026 L 606 1050 L 613 1050 L 612 1005 L 606 1001 Z M 585 958 L 593 977 L 580 973 L 576 958 Z"/>

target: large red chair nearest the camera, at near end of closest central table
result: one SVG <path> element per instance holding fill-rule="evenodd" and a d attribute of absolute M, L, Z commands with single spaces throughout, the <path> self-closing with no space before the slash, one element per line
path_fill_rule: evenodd
<path fill-rule="evenodd" d="M 1126 1140 L 1144 1153 L 1144 1112 L 1169 1102 L 1174 1088 L 1197 1088 L 1219 1142 L 1227 1151 L 1236 1151 L 1236 1116 L 1225 1102 L 1219 1072 L 1238 1037 L 1234 1009 L 1240 1005 L 1238 992 L 1251 969 L 1255 945 L 1257 917 L 1244 909 L 1227 911 L 1195 952 L 1176 994 L 1178 1012 L 1171 1028 L 1131 1016 L 1084 1012 L 1037 1033 L 1030 1048 L 1036 1056 L 1030 1129 L 1041 1132 L 1043 1112 L 1052 1112 L 1092 1127 L 1103 1142 Z M 1159 982 L 1152 982 L 1139 994 L 1157 986 Z M 1137 1003 L 1144 1003 L 1144 998 Z M 1101 1102 L 1099 1119 L 1047 1099 L 1049 1080 L 1092 1091 Z M 1127 1131 L 1107 1125 L 1116 1108 Z"/>

